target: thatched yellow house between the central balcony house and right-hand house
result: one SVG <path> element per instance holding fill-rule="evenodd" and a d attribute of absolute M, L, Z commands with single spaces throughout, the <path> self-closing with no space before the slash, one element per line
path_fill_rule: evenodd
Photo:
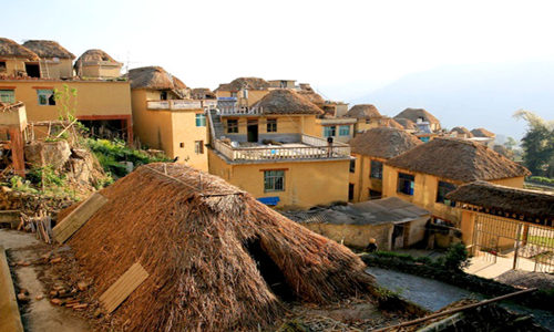
<path fill-rule="evenodd" d="M 422 144 L 416 136 L 392 127 L 376 127 L 350 141 L 352 157 L 348 198 L 363 201 L 382 197 L 382 181 L 387 176 L 383 164 Z"/>

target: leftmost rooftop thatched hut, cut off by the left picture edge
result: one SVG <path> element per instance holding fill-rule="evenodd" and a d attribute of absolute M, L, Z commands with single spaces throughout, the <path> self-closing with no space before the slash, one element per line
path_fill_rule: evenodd
<path fill-rule="evenodd" d="M 0 38 L 0 75 L 40 77 L 39 55 L 11 39 Z"/>

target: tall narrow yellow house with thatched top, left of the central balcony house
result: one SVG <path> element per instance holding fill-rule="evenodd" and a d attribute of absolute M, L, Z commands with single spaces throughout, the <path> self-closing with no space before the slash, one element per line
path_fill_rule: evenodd
<path fill-rule="evenodd" d="M 127 75 L 134 131 L 141 145 L 207 170 L 204 110 L 215 107 L 216 101 L 191 98 L 191 90 L 160 66 L 132 69 Z"/>

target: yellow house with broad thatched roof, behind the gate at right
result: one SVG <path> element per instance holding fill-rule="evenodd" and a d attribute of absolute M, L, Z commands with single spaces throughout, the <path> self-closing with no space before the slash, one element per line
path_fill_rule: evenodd
<path fill-rule="evenodd" d="M 433 220 L 460 227 L 461 212 L 445 195 L 475 180 L 522 188 L 530 172 L 489 147 L 460 138 L 434 138 L 384 163 L 382 194 L 431 211 Z"/>

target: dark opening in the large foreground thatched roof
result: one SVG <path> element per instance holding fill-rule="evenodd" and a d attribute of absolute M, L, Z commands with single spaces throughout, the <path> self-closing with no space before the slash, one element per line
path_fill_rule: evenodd
<path fill-rule="evenodd" d="M 295 293 L 288 287 L 285 276 L 273 259 L 264 251 L 259 239 L 250 239 L 245 248 L 257 264 L 261 278 L 266 281 L 271 292 L 284 301 L 296 300 Z"/>

